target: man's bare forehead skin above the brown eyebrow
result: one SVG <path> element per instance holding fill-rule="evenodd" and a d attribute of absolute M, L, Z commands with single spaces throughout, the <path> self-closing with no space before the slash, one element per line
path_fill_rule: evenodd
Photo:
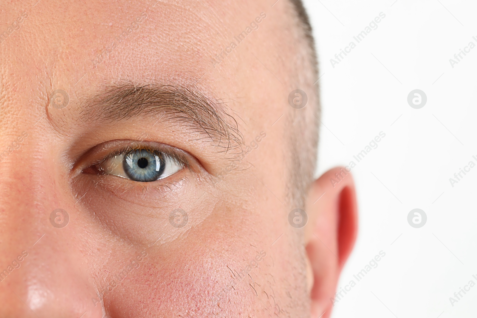
<path fill-rule="evenodd" d="M 61 88 L 72 100 L 117 79 L 168 77 L 217 98 L 263 95 L 264 84 L 278 90 L 290 74 L 288 9 L 252 0 L 13 1 L 1 12 L 2 72 L 18 90 Z"/>

